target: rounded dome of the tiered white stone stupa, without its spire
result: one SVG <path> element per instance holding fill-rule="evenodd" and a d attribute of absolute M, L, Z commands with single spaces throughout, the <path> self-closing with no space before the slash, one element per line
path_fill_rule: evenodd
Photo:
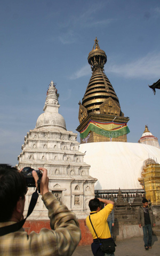
<path fill-rule="evenodd" d="M 49 126 L 50 129 L 66 130 L 65 119 L 59 113 L 45 112 L 41 114 L 37 119 L 36 128 L 44 126 Z"/>

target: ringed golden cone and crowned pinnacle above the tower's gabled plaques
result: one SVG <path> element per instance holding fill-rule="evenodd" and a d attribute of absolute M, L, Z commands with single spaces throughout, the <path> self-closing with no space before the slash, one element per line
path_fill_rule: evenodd
<path fill-rule="evenodd" d="M 100 106 L 111 97 L 120 111 L 121 108 L 118 97 L 103 70 L 105 63 L 107 62 L 106 53 L 100 49 L 97 37 L 94 41 L 93 49 L 88 57 L 88 62 L 91 65 L 93 73 L 82 99 L 82 105 L 86 108 L 87 114 L 92 111 L 100 114 Z"/>

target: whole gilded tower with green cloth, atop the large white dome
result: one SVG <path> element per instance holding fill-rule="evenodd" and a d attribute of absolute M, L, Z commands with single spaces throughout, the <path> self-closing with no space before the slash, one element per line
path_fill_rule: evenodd
<path fill-rule="evenodd" d="M 88 62 L 92 69 L 92 76 L 86 88 L 84 97 L 79 101 L 78 119 L 80 125 L 81 143 L 122 141 L 127 142 L 126 134 L 129 117 L 124 117 L 118 97 L 104 72 L 107 62 L 105 51 L 101 50 L 97 37 Z"/>

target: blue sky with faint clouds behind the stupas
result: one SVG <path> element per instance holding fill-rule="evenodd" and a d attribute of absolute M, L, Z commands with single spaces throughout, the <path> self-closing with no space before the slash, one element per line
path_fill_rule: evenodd
<path fill-rule="evenodd" d="M 160 90 L 154 95 L 148 87 L 160 78 L 159 1 L 0 0 L 0 22 L 1 163 L 18 163 L 51 80 L 67 130 L 76 132 L 96 36 L 107 55 L 105 73 L 130 117 L 128 142 L 139 140 L 145 124 L 160 142 Z"/>

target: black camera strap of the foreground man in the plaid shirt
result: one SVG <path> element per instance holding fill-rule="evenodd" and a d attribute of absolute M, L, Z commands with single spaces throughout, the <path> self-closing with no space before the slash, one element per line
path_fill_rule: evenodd
<path fill-rule="evenodd" d="M 22 228 L 22 226 L 24 225 L 28 216 L 33 212 L 34 207 L 37 203 L 38 196 L 39 195 L 37 193 L 37 188 L 36 188 L 36 191 L 31 196 L 27 217 L 25 219 L 21 220 L 20 222 L 14 223 L 14 224 L 9 225 L 9 226 L 1 227 L 0 228 L 0 236 L 4 236 L 6 234 L 13 233 L 15 231 L 18 231 L 20 228 Z"/>

